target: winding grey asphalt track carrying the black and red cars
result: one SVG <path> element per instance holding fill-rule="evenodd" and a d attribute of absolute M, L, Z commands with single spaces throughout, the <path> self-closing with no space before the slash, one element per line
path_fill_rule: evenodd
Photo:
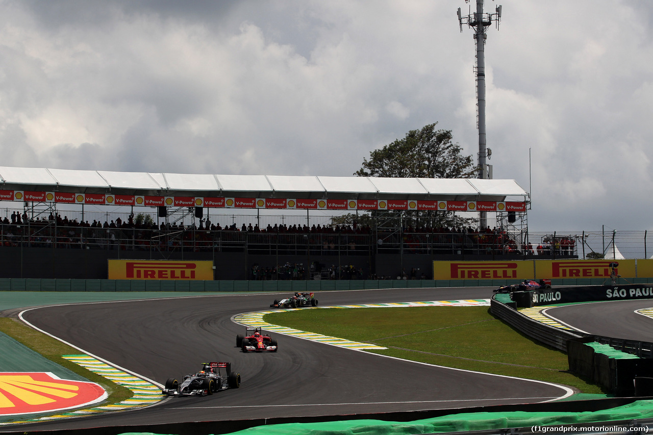
<path fill-rule="evenodd" d="M 283 293 L 282 295 L 286 295 Z M 363 302 L 489 298 L 490 287 L 328 291 L 321 306 Z M 276 335 L 278 353 L 242 353 L 231 321 L 266 310 L 278 293 L 95 302 L 30 310 L 27 321 L 84 351 L 165 383 L 227 361 L 240 389 L 174 397 L 146 409 L 64 419 L 9 430 L 57 430 L 305 415 L 468 408 L 542 402 L 565 395 L 554 385 L 400 361 Z"/>

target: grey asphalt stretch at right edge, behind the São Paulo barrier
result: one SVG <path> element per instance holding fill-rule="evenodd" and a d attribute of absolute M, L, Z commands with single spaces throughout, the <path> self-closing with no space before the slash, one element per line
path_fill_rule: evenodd
<path fill-rule="evenodd" d="M 546 314 L 588 334 L 653 342 L 653 320 L 635 313 L 652 306 L 651 299 L 608 300 L 548 308 Z"/>

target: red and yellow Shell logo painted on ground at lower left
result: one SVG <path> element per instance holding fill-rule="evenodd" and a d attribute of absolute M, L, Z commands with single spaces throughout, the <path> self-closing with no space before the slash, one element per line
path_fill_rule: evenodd
<path fill-rule="evenodd" d="M 0 415 L 77 408 L 106 398 L 92 382 L 60 379 L 45 372 L 0 373 Z"/>

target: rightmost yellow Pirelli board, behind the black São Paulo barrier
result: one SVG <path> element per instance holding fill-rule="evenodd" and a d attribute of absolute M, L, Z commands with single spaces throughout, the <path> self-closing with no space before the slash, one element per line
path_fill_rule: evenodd
<path fill-rule="evenodd" d="M 641 261 L 641 260 L 639 260 Z M 610 263 L 617 263 L 617 275 L 628 278 L 642 276 L 637 274 L 635 260 L 537 260 L 537 278 L 610 278 Z"/>

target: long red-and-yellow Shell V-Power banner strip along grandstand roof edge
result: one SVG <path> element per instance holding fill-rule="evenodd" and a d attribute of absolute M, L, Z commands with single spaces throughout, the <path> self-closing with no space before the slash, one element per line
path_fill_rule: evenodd
<path fill-rule="evenodd" d="M 235 197 L 167 197 L 0 190 L 0 201 L 144 207 L 288 208 L 300 210 L 436 210 L 442 212 L 526 212 L 526 202 L 436 201 L 398 199 L 277 199 Z"/>

